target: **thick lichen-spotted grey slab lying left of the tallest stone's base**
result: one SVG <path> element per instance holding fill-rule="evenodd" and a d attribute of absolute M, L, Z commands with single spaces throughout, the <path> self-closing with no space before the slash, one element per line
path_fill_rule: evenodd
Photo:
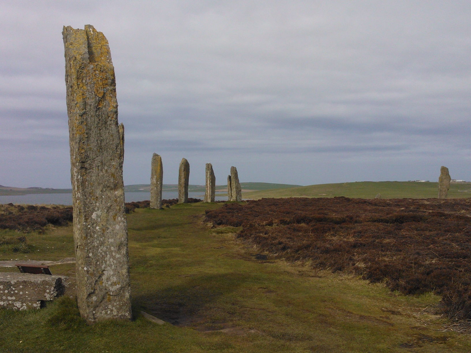
<path fill-rule="evenodd" d="M 67 276 L 0 272 L 0 308 L 40 309 L 41 301 L 53 300 L 65 293 Z"/>

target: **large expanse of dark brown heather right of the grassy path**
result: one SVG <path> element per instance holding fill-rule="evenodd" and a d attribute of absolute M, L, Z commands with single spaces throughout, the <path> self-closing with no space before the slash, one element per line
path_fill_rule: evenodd
<path fill-rule="evenodd" d="M 353 272 L 403 294 L 433 291 L 453 319 L 471 319 L 470 199 L 289 198 L 225 204 L 214 225 L 273 257 Z"/>

